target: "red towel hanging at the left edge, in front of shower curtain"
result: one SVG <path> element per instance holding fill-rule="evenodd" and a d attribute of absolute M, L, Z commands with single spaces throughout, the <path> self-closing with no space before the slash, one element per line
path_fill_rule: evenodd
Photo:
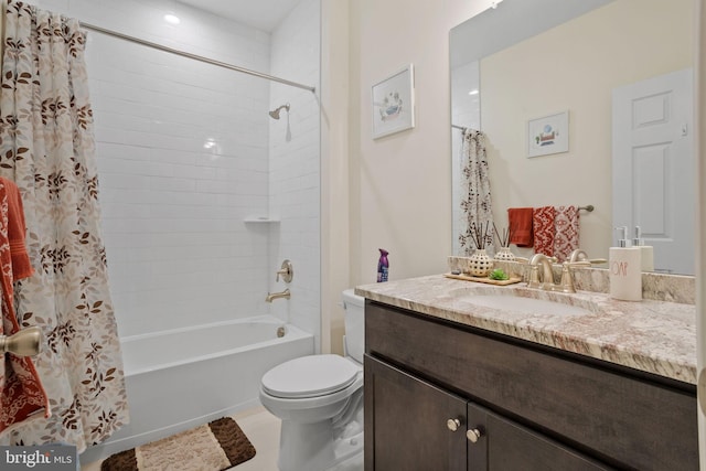
<path fill-rule="evenodd" d="M 24 212 L 18 186 L 0 178 L 0 266 L 2 268 L 2 323 L 0 334 L 20 330 L 14 313 L 13 282 L 32 275 L 24 246 Z M 18 272 L 14 272 L 14 269 Z M 30 357 L 3 355 L 0 367 L 0 432 L 30 418 L 50 416 L 50 405 L 39 374 Z"/>

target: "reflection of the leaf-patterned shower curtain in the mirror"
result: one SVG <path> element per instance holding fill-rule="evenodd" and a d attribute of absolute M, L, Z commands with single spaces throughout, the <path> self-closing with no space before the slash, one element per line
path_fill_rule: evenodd
<path fill-rule="evenodd" d="M 471 233 L 474 228 L 489 229 L 485 236 L 485 249 L 494 254 L 493 208 L 490 193 L 485 135 L 475 129 L 463 129 L 461 143 L 461 221 L 459 244 L 461 251 L 470 256 L 475 251 Z"/>

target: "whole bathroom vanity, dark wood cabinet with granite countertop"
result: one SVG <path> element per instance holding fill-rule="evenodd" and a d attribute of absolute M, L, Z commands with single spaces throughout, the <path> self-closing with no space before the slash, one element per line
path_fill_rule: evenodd
<path fill-rule="evenodd" d="M 698 469 L 693 304 L 550 293 L 585 311 L 503 311 L 473 298 L 542 292 L 469 285 L 356 289 L 367 471 Z"/>

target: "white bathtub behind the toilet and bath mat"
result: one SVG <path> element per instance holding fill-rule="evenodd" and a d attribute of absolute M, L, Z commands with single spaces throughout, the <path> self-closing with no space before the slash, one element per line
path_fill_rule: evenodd
<path fill-rule="evenodd" d="M 133 335 L 120 345 L 130 424 L 82 453 L 83 463 L 257 406 L 269 368 L 314 351 L 313 335 L 270 315 Z"/>

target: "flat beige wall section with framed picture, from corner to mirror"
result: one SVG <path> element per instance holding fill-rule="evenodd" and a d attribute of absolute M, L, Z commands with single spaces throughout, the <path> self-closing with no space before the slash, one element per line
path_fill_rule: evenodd
<path fill-rule="evenodd" d="M 442 272 L 451 254 L 449 30 L 490 0 L 351 2 L 351 282 Z M 416 128 L 371 137 L 371 85 L 415 66 Z"/>

